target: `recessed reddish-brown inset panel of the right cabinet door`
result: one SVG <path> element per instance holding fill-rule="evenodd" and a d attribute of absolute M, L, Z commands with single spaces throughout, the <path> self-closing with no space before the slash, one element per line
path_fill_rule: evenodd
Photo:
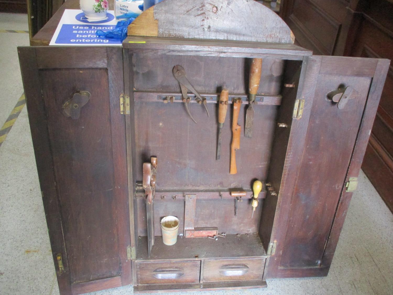
<path fill-rule="evenodd" d="M 306 147 L 289 212 L 282 267 L 313 267 L 321 263 L 370 81 L 369 77 L 318 76 Z M 353 85 L 359 92 L 341 110 L 325 98 L 329 89 L 337 89 L 340 84 Z M 340 152 L 335 152 L 338 146 Z"/>

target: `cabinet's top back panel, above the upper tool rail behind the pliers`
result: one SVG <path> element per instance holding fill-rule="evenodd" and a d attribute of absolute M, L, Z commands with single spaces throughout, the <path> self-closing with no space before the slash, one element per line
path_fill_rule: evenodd
<path fill-rule="evenodd" d="M 219 92 L 220 87 L 228 88 L 230 93 L 248 93 L 250 58 L 134 53 L 132 61 L 134 88 L 138 91 L 180 93 L 172 69 L 181 65 L 190 83 L 200 93 Z M 263 59 L 258 93 L 279 94 L 283 68 L 283 60 Z"/>

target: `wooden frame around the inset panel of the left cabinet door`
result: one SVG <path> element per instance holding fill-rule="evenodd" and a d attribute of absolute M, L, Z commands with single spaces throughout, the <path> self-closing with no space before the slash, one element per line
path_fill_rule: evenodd
<path fill-rule="evenodd" d="M 86 54 L 95 50 L 90 59 Z M 127 257 L 127 247 L 130 245 L 129 220 L 117 219 L 117 232 L 119 243 L 119 260 L 121 274 L 110 278 L 101 278 L 87 282 L 75 282 L 70 279 L 70 268 L 66 255 L 66 247 L 62 228 L 61 208 L 57 192 L 54 161 L 51 152 L 48 122 L 39 69 L 45 68 L 106 68 L 108 72 L 108 89 L 111 118 L 112 153 L 114 159 L 114 195 L 116 196 L 116 212 L 118 216 L 129 216 L 129 194 L 127 186 L 127 162 L 125 144 L 125 117 L 120 114 L 119 95 L 124 90 L 123 79 L 123 52 L 119 47 L 18 47 L 21 65 L 22 80 L 26 94 L 26 104 L 33 147 L 40 179 L 42 201 L 46 215 L 48 233 L 50 238 L 52 258 L 55 264 L 59 290 L 61 294 L 80 294 L 101 289 L 114 288 L 132 284 L 131 260 Z M 49 56 L 52 58 L 42 58 Z M 55 56 L 67 56 L 57 59 Z M 124 185 L 126 184 L 126 185 Z M 57 255 L 62 255 L 64 269 L 59 270 Z"/>

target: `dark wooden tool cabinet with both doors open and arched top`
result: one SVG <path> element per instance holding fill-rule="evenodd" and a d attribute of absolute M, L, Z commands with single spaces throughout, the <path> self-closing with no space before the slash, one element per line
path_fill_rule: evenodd
<path fill-rule="evenodd" d="M 129 36 L 123 48 L 18 48 L 61 294 L 129 284 L 134 292 L 261 288 L 266 278 L 329 271 L 389 61 L 312 56 L 293 45 L 285 23 L 257 2 L 196 2 L 184 1 L 165 21 L 160 13 L 177 2 L 152 7 L 129 33 L 149 17 L 156 29 Z M 209 25 L 205 35 L 195 29 L 198 39 L 185 39 L 182 26 L 168 33 L 176 20 L 186 23 L 187 13 L 197 19 L 196 10 L 207 21 L 212 7 L 217 28 Z M 60 17 L 61 11 L 33 44 L 47 44 Z M 223 33 L 228 22 L 239 30 L 239 22 L 248 21 L 264 30 Z M 243 100 L 244 126 L 253 57 L 263 59 L 253 136 L 245 138 L 242 130 L 238 172 L 230 175 L 232 100 Z M 201 105 L 189 104 L 197 124 L 180 100 L 174 65 L 185 68 L 207 99 L 209 117 Z M 353 91 L 344 92 L 349 86 Z M 230 104 L 221 159 L 215 160 L 223 87 Z M 333 98 L 338 89 L 343 94 Z M 79 107 L 82 100 L 87 102 Z M 149 256 L 141 182 L 151 156 L 158 167 Z M 251 218 L 255 179 L 264 186 Z M 246 191 L 237 216 L 233 190 Z M 179 234 L 185 227 L 217 227 L 226 238 L 178 236 L 166 246 L 160 219 L 168 215 L 180 219 Z"/>

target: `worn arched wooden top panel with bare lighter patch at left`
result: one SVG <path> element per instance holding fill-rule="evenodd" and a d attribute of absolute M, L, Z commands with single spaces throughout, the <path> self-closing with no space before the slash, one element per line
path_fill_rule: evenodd
<path fill-rule="evenodd" d="M 165 0 L 143 12 L 129 36 L 293 43 L 285 22 L 254 0 Z"/>

